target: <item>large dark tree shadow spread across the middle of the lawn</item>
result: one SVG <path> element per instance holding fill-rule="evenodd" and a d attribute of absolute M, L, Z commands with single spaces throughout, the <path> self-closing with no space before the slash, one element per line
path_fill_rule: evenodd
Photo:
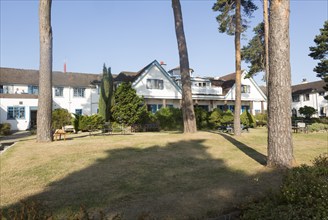
<path fill-rule="evenodd" d="M 280 181 L 269 169 L 256 175 L 231 169 L 207 150 L 203 139 L 107 150 L 105 158 L 25 201 L 39 201 L 60 218 L 84 205 L 123 213 L 124 219 L 137 219 L 144 211 L 159 219 L 195 219 L 218 215 Z"/>

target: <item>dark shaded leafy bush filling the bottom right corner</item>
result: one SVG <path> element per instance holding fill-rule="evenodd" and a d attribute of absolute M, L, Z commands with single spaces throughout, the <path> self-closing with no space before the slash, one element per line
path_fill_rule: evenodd
<path fill-rule="evenodd" d="M 242 219 L 328 219 L 328 155 L 288 171 L 277 194 L 248 206 Z"/>

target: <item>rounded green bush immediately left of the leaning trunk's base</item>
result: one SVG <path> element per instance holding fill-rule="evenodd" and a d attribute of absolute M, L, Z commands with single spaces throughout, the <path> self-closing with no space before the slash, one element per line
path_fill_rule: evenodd
<path fill-rule="evenodd" d="M 183 128 L 181 109 L 172 107 L 161 108 L 155 113 L 155 116 L 162 130 L 172 131 L 182 130 Z"/>

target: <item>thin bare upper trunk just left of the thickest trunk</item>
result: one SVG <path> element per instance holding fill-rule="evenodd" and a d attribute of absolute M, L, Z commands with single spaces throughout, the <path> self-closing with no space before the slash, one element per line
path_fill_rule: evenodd
<path fill-rule="evenodd" d="M 269 14 L 268 0 L 263 0 L 263 21 L 264 21 L 264 50 L 265 50 L 265 81 L 268 89 L 269 81 Z"/>

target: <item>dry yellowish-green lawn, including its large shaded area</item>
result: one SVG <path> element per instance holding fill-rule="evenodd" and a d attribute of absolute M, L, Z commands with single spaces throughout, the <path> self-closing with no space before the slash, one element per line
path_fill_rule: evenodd
<path fill-rule="evenodd" d="M 298 164 L 328 152 L 327 133 L 294 134 Z M 81 205 L 136 219 L 210 217 L 275 189 L 281 172 L 264 166 L 266 129 L 241 137 L 136 133 L 19 142 L 0 156 L 0 205 L 41 201 L 63 217 Z"/>

